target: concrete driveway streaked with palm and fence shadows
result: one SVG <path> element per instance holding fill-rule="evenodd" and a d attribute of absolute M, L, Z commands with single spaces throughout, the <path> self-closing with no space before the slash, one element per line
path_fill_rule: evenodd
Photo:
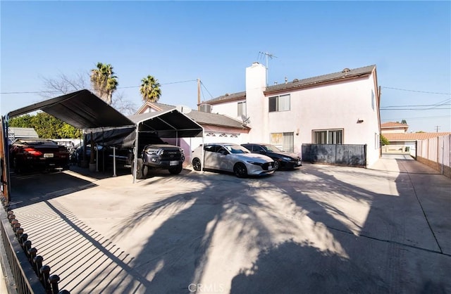
<path fill-rule="evenodd" d="M 404 155 L 92 175 L 12 179 L 16 218 L 71 293 L 451 293 L 451 179 Z"/>

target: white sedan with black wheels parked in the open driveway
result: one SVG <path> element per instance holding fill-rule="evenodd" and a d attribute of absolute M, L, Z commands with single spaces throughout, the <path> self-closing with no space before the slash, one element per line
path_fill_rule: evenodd
<path fill-rule="evenodd" d="M 202 164 L 202 148 L 204 163 Z M 274 160 L 266 155 L 251 153 L 245 147 L 233 143 L 208 143 L 192 151 L 192 167 L 202 170 L 233 172 L 237 177 L 259 176 L 274 172 Z"/>

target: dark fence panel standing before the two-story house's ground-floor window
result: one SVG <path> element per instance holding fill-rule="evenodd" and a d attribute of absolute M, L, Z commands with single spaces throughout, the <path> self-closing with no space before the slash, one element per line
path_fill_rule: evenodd
<path fill-rule="evenodd" d="M 329 165 L 366 166 L 366 144 L 302 144 L 302 160 Z"/>

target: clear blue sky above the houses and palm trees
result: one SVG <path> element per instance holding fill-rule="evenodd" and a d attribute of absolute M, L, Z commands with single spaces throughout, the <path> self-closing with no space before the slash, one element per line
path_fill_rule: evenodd
<path fill-rule="evenodd" d="M 1 1 L 0 113 L 42 100 L 43 78 L 88 75 L 110 63 L 118 91 L 142 105 L 140 81 L 161 103 L 196 108 L 245 90 L 245 68 L 268 83 L 377 65 L 381 121 L 451 132 L 450 1 Z M 393 107 L 396 106 L 396 107 Z M 418 110 L 418 108 L 423 108 Z M 402 110 L 400 110 L 402 109 Z M 414 109 L 414 110 L 412 110 Z"/>

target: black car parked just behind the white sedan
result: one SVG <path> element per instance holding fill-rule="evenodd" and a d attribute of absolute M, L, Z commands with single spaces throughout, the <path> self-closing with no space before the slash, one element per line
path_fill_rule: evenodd
<path fill-rule="evenodd" d="M 264 154 L 274 160 L 274 170 L 292 170 L 302 165 L 302 159 L 295 153 L 283 152 L 276 146 L 265 143 L 246 143 L 241 146 L 252 153 Z"/>

